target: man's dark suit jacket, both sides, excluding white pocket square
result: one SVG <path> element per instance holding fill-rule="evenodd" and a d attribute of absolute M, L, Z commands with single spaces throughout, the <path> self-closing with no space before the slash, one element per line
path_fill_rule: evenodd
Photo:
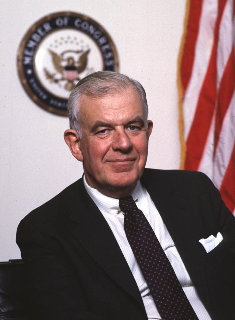
<path fill-rule="evenodd" d="M 235 319 L 235 218 L 202 173 L 145 169 L 147 188 L 213 320 Z M 221 232 L 206 253 L 198 242 Z M 144 320 L 140 292 L 107 222 L 80 179 L 29 213 L 17 243 L 33 319 Z"/>

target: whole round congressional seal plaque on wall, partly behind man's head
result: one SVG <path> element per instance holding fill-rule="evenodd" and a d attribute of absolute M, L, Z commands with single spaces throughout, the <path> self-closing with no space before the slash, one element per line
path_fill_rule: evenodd
<path fill-rule="evenodd" d="M 78 81 L 100 70 L 118 72 L 115 45 L 102 26 L 79 13 L 42 18 L 19 46 L 18 72 L 25 91 L 57 115 L 67 115 L 67 100 Z"/>

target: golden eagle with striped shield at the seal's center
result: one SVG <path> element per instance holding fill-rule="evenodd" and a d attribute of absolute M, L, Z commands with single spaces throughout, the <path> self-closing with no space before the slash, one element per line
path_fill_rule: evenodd
<path fill-rule="evenodd" d="M 60 55 L 48 49 L 53 66 L 56 73 L 50 73 L 47 68 L 44 68 L 46 78 L 52 83 L 60 83 L 65 81 L 64 89 L 71 91 L 77 81 L 80 80 L 79 74 L 87 67 L 88 54 L 90 49 L 83 50 L 66 50 Z M 60 74 L 60 76 L 58 75 Z"/>

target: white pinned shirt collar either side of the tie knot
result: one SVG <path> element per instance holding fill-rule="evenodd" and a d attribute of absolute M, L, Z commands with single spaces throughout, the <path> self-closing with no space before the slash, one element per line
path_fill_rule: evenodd
<path fill-rule="evenodd" d="M 113 215 L 120 215 L 120 208 L 119 208 L 119 199 L 112 198 L 109 196 L 105 196 L 100 191 L 95 188 L 90 187 L 87 184 L 87 180 L 85 178 L 85 174 L 83 175 L 83 181 L 85 189 L 88 195 L 92 198 L 95 202 L 97 207 L 103 213 L 113 214 Z M 138 199 L 136 201 L 136 205 L 140 210 L 149 214 L 148 210 L 148 201 L 147 201 L 147 192 L 146 189 L 142 187 L 140 180 L 137 182 L 137 185 L 132 193 L 133 199 Z"/>

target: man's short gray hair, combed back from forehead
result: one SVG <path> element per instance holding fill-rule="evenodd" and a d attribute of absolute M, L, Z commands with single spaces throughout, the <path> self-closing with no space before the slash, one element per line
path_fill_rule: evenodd
<path fill-rule="evenodd" d="M 68 116 L 70 129 L 75 130 L 82 137 L 80 116 L 80 97 L 82 94 L 92 98 L 102 98 L 133 87 L 140 94 L 144 105 L 144 115 L 147 122 L 148 102 L 143 86 L 136 80 L 121 73 L 112 71 L 98 71 L 82 78 L 72 90 L 68 100 Z"/>

